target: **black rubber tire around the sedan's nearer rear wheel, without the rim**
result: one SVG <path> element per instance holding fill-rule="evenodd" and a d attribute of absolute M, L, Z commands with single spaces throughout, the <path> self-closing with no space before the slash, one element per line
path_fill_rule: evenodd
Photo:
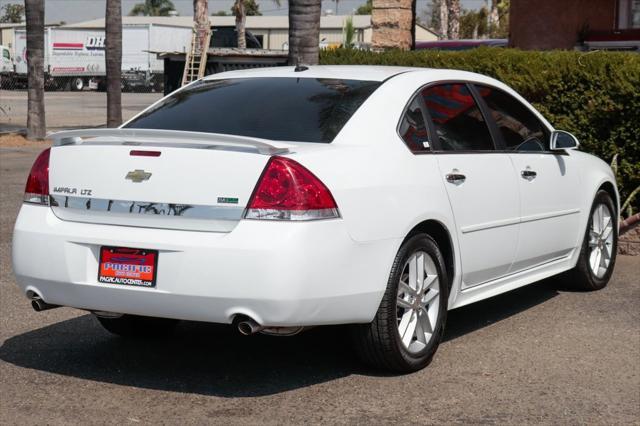
<path fill-rule="evenodd" d="M 408 260 L 412 254 L 420 251 L 431 257 L 437 269 L 439 311 L 433 333 L 426 346 L 418 352 L 410 352 L 402 343 L 398 331 L 398 285 Z M 397 373 L 413 372 L 426 367 L 442 340 L 448 299 L 449 280 L 438 245 L 426 234 L 412 236 L 402 244 L 396 255 L 387 289 L 373 321 L 351 327 L 356 352 L 366 364 Z"/>

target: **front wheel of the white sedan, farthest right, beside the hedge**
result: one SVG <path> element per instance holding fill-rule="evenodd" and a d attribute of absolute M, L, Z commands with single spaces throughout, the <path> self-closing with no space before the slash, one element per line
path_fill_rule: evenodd
<path fill-rule="evenodd" d="M 609 193 L 599 191 L 591 207 L 578 263 L 567 275 L 571 287 L 578 290 L 599 290 L 609 282 L 618 250 L 618 221 L 615 211 Z"/>

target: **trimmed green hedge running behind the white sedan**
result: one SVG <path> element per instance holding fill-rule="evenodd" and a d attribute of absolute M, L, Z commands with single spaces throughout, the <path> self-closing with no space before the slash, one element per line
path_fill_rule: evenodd
<path fill-rule="evenodd" d="M 451 68 L 497 78 L 529 100 L 556 128 L 575 134 L 585 151 L 607 162 L 619 154 L 618 184 L 623 197 L 640 185 L 637 53 L 498 48 L 374 53 L 338 49 L 322 51 L 320 63 Z M 635 211 L 639 202 L 634 202 Z"/>

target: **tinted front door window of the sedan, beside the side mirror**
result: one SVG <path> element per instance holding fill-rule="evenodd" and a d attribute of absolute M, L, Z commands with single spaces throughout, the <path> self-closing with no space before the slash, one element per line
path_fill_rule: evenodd
<path fill-rule="evenodd" d="M 479 85 L 476 88 L 489 107 L 507 150 L 548 149 L 548 131 L 529 108 L 502 90 Z"/>

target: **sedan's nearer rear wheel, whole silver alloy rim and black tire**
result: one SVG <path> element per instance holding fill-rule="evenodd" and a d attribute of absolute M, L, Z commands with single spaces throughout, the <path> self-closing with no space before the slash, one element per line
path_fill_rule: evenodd
<path fill-rule="evenodd" d="M 407 373 L 433 358 L 447 316 L 449 285 L 436 242 L 419 234 L 404 242 L 370 324 L 352 327 L 355 349 L 377 368 Z"/>

